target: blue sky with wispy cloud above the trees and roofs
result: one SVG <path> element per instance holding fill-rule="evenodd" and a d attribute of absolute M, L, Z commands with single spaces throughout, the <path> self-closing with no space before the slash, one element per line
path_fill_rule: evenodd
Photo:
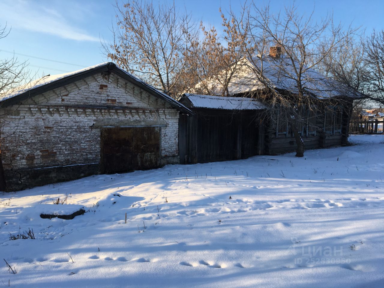
<path fill-rule="evenodd" d="M 264 0 L 255 2 L 260 6 L 265 3 Z M 107 61 L 101 53 L 100 39 L 111 38 L 109 28 L 115 21 L 115 3 L 115 0 L 0 0 L 0 24 L 3 26 L 7 22 L 12 28 L 10 35 L 0 40 L 0 58 L 12 56 L 7 51 L 13 51 L 81 66 Z M 231 6 L 236 11 L 239 3 L 229 0 L 175 0 L 180 11 L 185 7 L 198 21 L 215 26 L 221 25 L 220 6 L 223 10 Z M 273 12 L 291 3 L 291 0 L 270 1 Z M 299 13 L 308 14 L 314 8 L 316 19 L 333 12 L 336 23 L 362 26 L 366 33 L 371 33 L 374 28 L 384 28 L 382 0 L 298 0 L 295 3 Z M 30 70 L 39 76 L 81 69 L 81 66 L 16 56 L 19 60 L 28 60 Z"/>

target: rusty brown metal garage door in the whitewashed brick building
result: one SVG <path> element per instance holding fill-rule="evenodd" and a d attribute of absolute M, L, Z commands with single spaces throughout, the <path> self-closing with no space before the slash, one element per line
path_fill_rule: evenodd
<path fill-rule="evenodd" d="M 160 166 L 160 128 L 104 128 L 101 167 L 106 174 Z"/>

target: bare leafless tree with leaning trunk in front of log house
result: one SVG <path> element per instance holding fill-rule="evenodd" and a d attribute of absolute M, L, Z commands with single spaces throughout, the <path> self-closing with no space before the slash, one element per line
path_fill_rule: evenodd
<path fill-rule="evenodd" d="M 341 27 L 334 26 L 332 15 L 314 22 L 313 13 L 301 16 L 295 6 L 271 15 L 269 5 L 259 8 L 252 2 L 243 6 L 239 16 L 233 12 L 230 15 L 234 19 L 232 25 L 242 35 L 242 48 L 247 54 L 245 65 L 253 72 L 243 75 L 250 77 L 251 86 L 257 87 L 252 96 L 269 104 L 268 114 L 275 116 L 271 119 L 274 125 L 278 124 L 277 119 L 289 122 L 296 140 L 296 156 L 303 157 L 305 144 L 300 128 L 316 117 L 314 110 L 319 102 L 327 107 L 326 99 L 334 96 L 333 87 L 326 85 L 328 77 L 314 70 L 344 39 L 337 37 Z M 274 48 L 267 54 L 271 45 Z M 258 85 L 251 81 L 255 77 Z"/>

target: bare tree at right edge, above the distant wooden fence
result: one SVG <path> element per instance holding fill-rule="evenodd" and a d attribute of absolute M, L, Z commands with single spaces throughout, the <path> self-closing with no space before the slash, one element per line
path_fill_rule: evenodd
<path fill-rule="evenodd" d="M 370 36 L 339 35 L 334 48 L 320 65 L 321 71 L 356 93 L 354 106 L 384 104 L 384 30 Z"/>

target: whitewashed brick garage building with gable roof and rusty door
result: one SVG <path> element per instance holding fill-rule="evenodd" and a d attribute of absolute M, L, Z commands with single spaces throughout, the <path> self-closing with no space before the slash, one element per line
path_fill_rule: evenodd
<path fill-rule="evenodd" d="M 7 190 L 179 163 L 181 103 L 113 63 L 0 99 Z"/>

